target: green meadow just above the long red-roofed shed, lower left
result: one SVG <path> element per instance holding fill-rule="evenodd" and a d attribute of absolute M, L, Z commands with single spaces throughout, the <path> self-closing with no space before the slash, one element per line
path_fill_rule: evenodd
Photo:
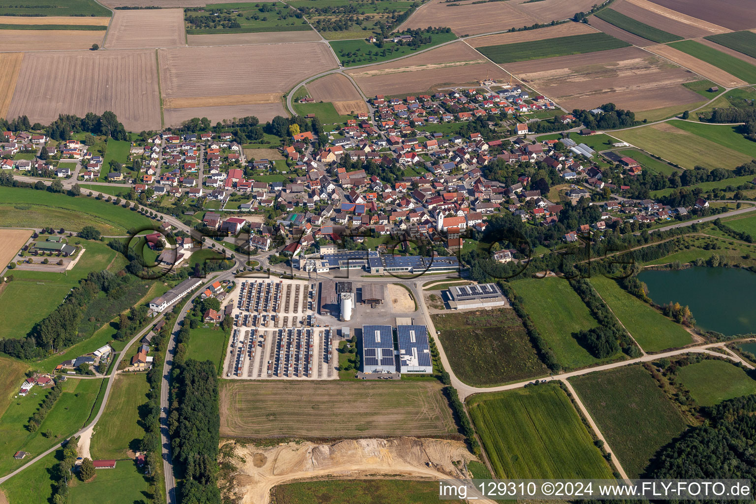
<path fill-rule="evenodd" d="M 133 346 L 131 351 L 133 353 Z M 146 373 L 125 373 L 116 378 L 105 412 L 91 438 L 93 459 L 124 459 L 127 451 L 138 450 L 139 441 L 144 438 L 138 408 L 147 402 L 148 391 Z"/>

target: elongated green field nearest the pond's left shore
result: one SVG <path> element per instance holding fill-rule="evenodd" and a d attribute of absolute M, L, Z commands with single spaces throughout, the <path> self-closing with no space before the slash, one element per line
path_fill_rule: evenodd
<path fill-rule="evenodd" d="M 683 326 L 625 292 L 614 280 L 596 275 L 590 284 L 645 351 L 688 345 L 692 337 Z"/>

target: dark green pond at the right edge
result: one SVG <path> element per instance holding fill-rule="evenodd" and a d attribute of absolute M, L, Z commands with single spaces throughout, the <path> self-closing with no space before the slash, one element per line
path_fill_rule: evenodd
<path fill-rule="evenodd" d="M 734 267 L 646 270 L 638 279 L 658 305 L 688 305 L 699 327 L 725 335 L 756 333 L 756 274 Z"/>

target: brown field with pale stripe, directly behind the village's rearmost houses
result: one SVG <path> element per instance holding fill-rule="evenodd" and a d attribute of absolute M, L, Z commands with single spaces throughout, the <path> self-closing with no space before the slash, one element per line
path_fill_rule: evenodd
<path fill-rule="evenodd" d="M 510 79 L 508 73 L 464 42 L 347 73 L 367 96 L 416 93 L 435 86 L 463 85 L 486 78 L 507 82 Z"/>

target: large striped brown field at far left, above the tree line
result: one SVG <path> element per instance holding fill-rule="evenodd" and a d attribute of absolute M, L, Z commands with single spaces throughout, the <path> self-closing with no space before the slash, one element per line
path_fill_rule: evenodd
<path fill-rule="evenodd" d="M 26 114 L 31 122 L 48 124 L 60 113 L 84 117 L 106 110 L 129 131 L 160 129 L 155 51 L 24 55 L 8 116 Z"/>

